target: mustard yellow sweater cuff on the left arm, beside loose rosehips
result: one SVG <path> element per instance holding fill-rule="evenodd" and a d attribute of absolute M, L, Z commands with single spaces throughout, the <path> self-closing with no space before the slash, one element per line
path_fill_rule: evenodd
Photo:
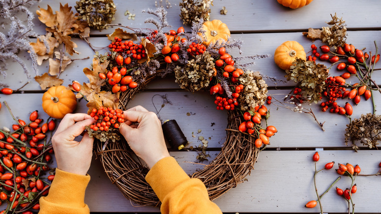
<path fill-rule="evenodd" d="M 85 190 L 89 175 L 74 174 L 56 169 L 49 194 L 40 198 L 39 214 L 89 214 Z"/>

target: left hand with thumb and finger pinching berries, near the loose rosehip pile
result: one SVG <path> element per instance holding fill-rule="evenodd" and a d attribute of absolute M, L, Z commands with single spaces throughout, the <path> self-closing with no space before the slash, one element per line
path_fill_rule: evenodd
<path fill-rule="evenodd" d="M 85 133 L 81 142 L 74 138 L 79 136 L 85 126 L 95 122 L 87 114 L 66 114 L 52 138 L 57 160 L 57 168 L 75 174 L 85 175 L 90 168 L 94 138 Z"/>

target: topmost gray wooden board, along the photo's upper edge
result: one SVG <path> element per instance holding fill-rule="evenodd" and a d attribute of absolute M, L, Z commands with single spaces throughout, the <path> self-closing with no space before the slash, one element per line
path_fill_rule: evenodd
<path fill-rule="evenodd" d="M 66 0 L 73 7 L 76 0 Z M 142 14 L 144 9 L 154 9 L 155 1 L 126 1 L 114 0 L 117 7 L 115 13 L 115 21 L 112 24 L 121 23 L 129 27 L 136 28 L 153 28 L 152 24 L 145 24 L 144 21 L 148 14 Z M 159 2 L 159 0 L 157 0 Z M 165 1 L 164 1 L 165 2 Z M 178 6 L 179 1 L 171 1 L 172 7 L 167 9 L 167 20 L 170 25 L 176 29 L 183 25 L 180 20 L 180 9 Z M 42 0 L 38 4 L 31 7 L 31 11 L 35 12 L 40 6 L 46 9 L 49 4 L 53 11 L 59 10 L 59 1 L 55 0 Z M 217 19 L 225 22 L 233 33 L 240 33 L 245 31 L 250 32 L 263 32 L 263 31 L 301 31 L 309 27 L 321 28 L 326 26 L 325 21 L 330 21 L 330 14 L 337 13 L 337 16 L 343 17 L 343 20 L 348 24 L 349 29 L 364 29 L 364 28 L 380 28 L 379 8 L 381 8 L 380 1 L 374 0 L 315 0 L 309 5 L 298 8 L 296 10 L 283 7 L 275 0 L 214 0 L 214 6 L 211 6 L 211 20 Z M 228 10 L 227 15 L 221 15 L 220 10 L 225 6 Z M 128 20 L 125 12 L 129 10 L 130 13 L 135 14 L 135 20 Z M 355 15 L 354 15 L 355 14 Z M 34 21 L 35 31 L 38 34 L 45 34 L 45 26 L 37 19 Z M 186 27 L 190 30 L 189 27 Z M 107 30 L 97 31 L 93 30 L 92 34 L 108 34 L 113 31 L 112 28 Z"/>

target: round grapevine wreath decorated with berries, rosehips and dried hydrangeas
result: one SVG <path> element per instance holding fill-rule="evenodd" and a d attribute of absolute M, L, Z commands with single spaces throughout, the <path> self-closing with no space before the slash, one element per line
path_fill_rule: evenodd
<path fill-rule="evenodd" d="M 71 87 L 79 91 L 77 98 L 85 97 L 88 113 L 97 120 L 86 129 L 98 141 L 96 154 L 107 176 L 128 199 L 154 206 L 160 201 L 145 180 L 148 168 L 119 136 L 117 128 L 124 122 L 122 110 L 151 80 L 168 74 L 174 74 L 183 89 L 208 90 L 215 97 L 216 109 L 228 112 L 227 136 L 218 156 L 191 177 L 204 182 L 213 200 L 243 182 L 259 151 L 276 132 L 274 126 L 261 128 L 261 119 L 268 115 L 263 106 L 267 85 L 259 72 L 243 70 L 253 63 L 235 64 L 245 57 L 228 54 L 227 49 L 240 48 L 242 42 L 230 38 L 226 24 L 210 21 L 193 24 L 190 33 L 183 27 L 166 32 L 166 11 L 158 8 L 146 12 L 158 18 L 146 20 L 157 30 L 127 27 L 134 31 L 130 34 L 116 29 L 108 35 L 111 52 L 98 54 L 92 69 L 84 69 L 90 83 L 81 86 L 73 82 Z M 140 42 L 134 43 L 137 35 Z M 267 55 L 247 59 L 263 57 Z"/>

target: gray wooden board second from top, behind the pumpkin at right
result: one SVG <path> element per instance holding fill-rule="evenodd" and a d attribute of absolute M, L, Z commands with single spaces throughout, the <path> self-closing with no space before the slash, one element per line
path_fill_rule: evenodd
<path fill-rule="evenodd" d="M 266 78 L 266 83 L 269 86 L 295 86 L 293 81 L 286 81 L 284 78 L 285 72 L 278 68 L 274 63 L 274 51 L 278 45 L 285 41 L 297 41 L 302 44 L 305 48 L 306 52 L 311 50 L 312 42 L 305 38 L 301 33 L 255 33 L 255 34 L 238 34 L 233 35 L 233 39 L 240 39 L 244 42 L 242 47 L 242 56 L 254 56 L 254 55 L 262 55 L 262 54 L 270 54 L 271 57 L 265 59 L 256 59 L 254 60 L 255 65 L 249 67 L 249 69 L 260 71 L 260 73 Z M 381 44 L 381 31 L 350 31 L 348 32 L 348 43 L 353 43 L 356 47 L 363 48 L 366 47 L 367 52 L 372 51 L 375 53 L 374 41 L 376 40 L 378 44 Z M 80 83 L 88 82 L 87 77 L 83 73 L 83 69 L 85 67 L 90 67 L 92 63 L 92 58 L 94 55 L 93 50 L 80 39 L 73 39 L 75 43 L 78 44 L 77 50 L 80 52 L 79 55 L 75 54 L 71 56 L 71 59 L 83 59 L 86 57 L 90 57 L 87 60 L 75 60 L 71 64 L 69 64 L 65 71 L 60 75 L 60 78 L 64 80 L 63 86 L 67 86 L 71 84 L 73 80 L 77 80 Z M 109 40 L 106 37 L 100 38 L 91 38 L 90 43 L 94 44 L 97 47 L 106 47 L 109 44 Z M 322 45 L 320 41 L 315 41 L 317 46 Z M 100 51 L 100 53 L 105 53 L 106 50 Z M 381 52 L 381 50 L 379 51 Z M 232 56 L 240 56 L 238 50 L 232 50 Z M 311 53 L 307 53 L 311 54 Z M 20 54 L 21 58 L 27 63 L 28 68 L 32 71 L 29 55 L 26 52 L 22 52 Z M 250 62 L 249 60 L 245 60 L 242 63 Z M 330 66 L 327 62 L 317 61 L 318 63 L 323 63 L 326 66 Z M 376 64 L 375 68 L 381 68 L 380 64 Z M 48 61 L 45 60 L 41 66 L 39 66 L 39 75 L 42 75 L 45 72 L 49 71 Z M 26 76 L 23 74 L 23 70 L 21 66 L 17 63 L 8 61 L 8 75 L 4 79 L 0 76 L 0 81 L 7 83 L 13 89 L 19 88 L 24 85 L 28 80 Z M 330 70 L 331 76 L 341 75 L 342 71 L 337 71 L 336 66 L 334 65 Z M 34 74 L 32 74 L 34 77 Z M 372 75 L 372 78 L 376 81 L 378 85 L 381 86 L 381 72 L 375 71 Z M 274 81 L 275 79 L 275 81 Z M 348 82 L 359 82 L 356 77 L 351 77 L 347 80 Z M 149 89 L 176 89 L 179 86 L 174 82 L 174 79 L 164 78 L 163 80 L 155 80 L 154 82 L 148 84 Z M 39 84 L 33 79 L 31 82 L 23 88 L 23 90 L 41 90 Z"/>

